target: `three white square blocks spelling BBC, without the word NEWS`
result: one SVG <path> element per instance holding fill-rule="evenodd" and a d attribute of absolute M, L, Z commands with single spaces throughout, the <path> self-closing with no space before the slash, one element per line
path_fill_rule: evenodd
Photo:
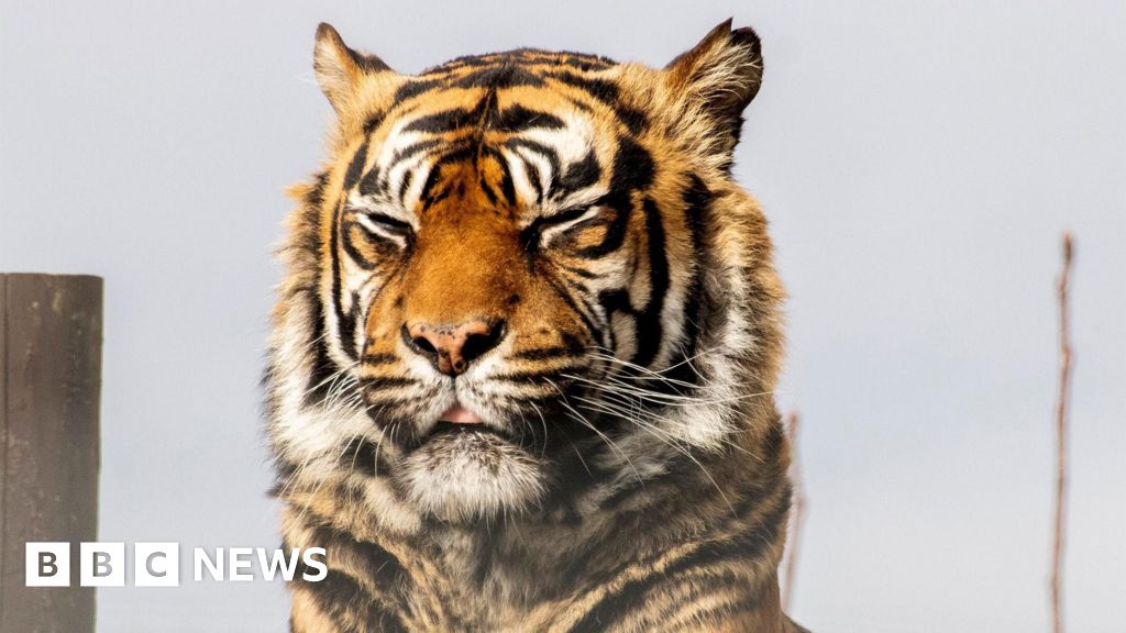
<path fill-rule="evenodd" d="M 30 542 L 26 544 L 25 556 L 27 587 L 70 587 L 70 543 Z M 82 543 L 79 546 L 79 585 L 82 587 L 124 587 L 125 565 L 125 543 Z M 133 583 L 137 587 L 178 587 L 180 544 L 135 543 Z"/>

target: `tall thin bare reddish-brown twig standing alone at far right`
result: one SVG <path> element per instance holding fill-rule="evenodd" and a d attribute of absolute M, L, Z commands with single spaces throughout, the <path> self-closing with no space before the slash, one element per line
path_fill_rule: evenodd
<path fill-rule="evenodd" d="M 1056 280 L 1060 302 L 1060 392 L 1056 396 L 1055 525 L 1052 541 L 1052 631 L 1063 633 L 1063 542 L 1067 514 L 1067 400 L 1071 386 L 1071 332 L 1067 320 L 1067 283 L 1071 276 L 1071 232 L 1063 234 L 1063 267 Z"/>

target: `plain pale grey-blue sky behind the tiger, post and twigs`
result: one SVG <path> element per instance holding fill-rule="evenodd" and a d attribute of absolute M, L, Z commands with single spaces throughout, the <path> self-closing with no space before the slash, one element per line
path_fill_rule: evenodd
<path fill-rule="evenodd" d="M 313 32 L 401 71 L 763 39 L 735 170 L 792 298 L 816 631 L 1046 630 L 1058 234 L 1075 232 L 1067 614 L 1126 622 L 1126 5 L 0 0 L 0 270 L 106 277 L 101 535 L 274 546 L 258 377 Z M 263 582 L 105 589 L 99 631 L 283 631 Z"/>

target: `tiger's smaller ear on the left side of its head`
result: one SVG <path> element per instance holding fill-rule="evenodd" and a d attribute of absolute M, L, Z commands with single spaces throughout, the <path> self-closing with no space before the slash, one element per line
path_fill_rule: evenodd
<path fill-rule="evenodd" d="M 396 73 L 375 55 L 357 53 L 327 23 L 316 27 L 313 46 L 313 70 L 321 91 L 337 115 L 347 118 L 360 109 L 365 79 Z"/>

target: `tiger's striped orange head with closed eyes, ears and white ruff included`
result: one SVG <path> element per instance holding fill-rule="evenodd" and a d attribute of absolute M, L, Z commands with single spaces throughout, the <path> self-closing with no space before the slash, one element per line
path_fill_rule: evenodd
<path fill-rule="evenodd" d="M 284 475 L 480 520 L 611 494 L 772 411 L 751 395 L 781 291 L 730 175 L 751 29 L 661 70 L 519 50 L 409 75 L 321 25 L 314 68 L 336 122 L 282 249 Z"/>

